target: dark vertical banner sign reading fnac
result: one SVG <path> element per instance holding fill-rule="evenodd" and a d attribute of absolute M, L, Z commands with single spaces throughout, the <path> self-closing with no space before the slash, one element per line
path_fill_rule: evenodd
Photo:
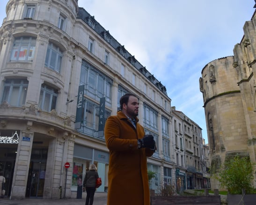
<path fill-rule="evenodd" d="M 82 114 L 84 102 L 84 85 L 78 88 L 77 103 L 76 103 L 76 116 L 75 116 L 75 129 L 81 128 Z"/>

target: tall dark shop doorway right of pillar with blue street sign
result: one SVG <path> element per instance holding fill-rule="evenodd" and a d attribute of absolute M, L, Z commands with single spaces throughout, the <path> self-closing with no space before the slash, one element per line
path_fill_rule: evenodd
<path fill-rule="evenodd" d="M 43 197 L 47 149 L 32 149 L 26 197 Z"/>

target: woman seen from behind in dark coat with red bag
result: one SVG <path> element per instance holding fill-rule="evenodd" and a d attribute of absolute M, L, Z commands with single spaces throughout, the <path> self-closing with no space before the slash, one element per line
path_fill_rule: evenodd
<path fill-rule="evenodd" d="M 99 177 L 96 166 L 90 164 L 89 171 L 86 172 L 83 186 L 86 190 L 85 205 L 93 205 L 94 193 L 96 190 L 96 179 Z"/>

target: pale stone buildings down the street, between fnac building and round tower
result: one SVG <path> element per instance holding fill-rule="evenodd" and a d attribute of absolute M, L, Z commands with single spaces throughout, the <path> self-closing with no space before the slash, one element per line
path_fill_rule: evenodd
<path fill-rule="evenodd" d="M 210 188 L 208 146 L 202 129 L 175 106 L 171 109 L 177 190 Z"/>

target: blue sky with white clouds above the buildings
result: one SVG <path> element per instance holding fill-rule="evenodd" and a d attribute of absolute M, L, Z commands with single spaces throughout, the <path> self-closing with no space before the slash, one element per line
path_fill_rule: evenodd
<path fill-rule="evenodd" d="M 0 22 L 8 0 L 0 2 Z M 254 0 L 78 0 L 166 86 L 171 106 L 207 131 L 199 78 L 204 66 L 234 55 Z"/>

